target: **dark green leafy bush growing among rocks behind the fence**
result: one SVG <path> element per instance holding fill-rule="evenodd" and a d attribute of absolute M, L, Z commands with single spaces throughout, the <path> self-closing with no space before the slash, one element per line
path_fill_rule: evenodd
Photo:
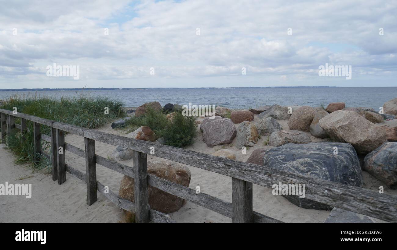
<path fill-rule="evenodd" d="M 197 136 L 197 117 L 183 116 L 181 110 L 174 113 L 170 120 L 166 114 L 149 107 L 145 115 L 131 117 L 121 129 L 131 133 L 141 126 L 148 126 L 165 145 L 183 148 L 193 144 Z"/>

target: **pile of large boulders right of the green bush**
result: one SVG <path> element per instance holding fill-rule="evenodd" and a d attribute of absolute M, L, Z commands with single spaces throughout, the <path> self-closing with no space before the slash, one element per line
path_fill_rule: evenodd
<path fill-rule="evenodd" d="M 268 136 L 267 146 L 254 150 L 248 163 L 358 187 L 362 186 L 363 169 L 394 188 L 397 126 L 383 124 L 396 118 L 397 98 L 386 102 L 382 111 L 346 107 L 343 102 L 330 103 L 326 108 L 277 104 L 250 110 L 216 107 L 216 119 L 206 118 L 200 130 L 208 147 L 234 142 L 241 149 L 254 146 L 260 136 Z M 254 121 L 254 115 L 258 121 Z M 289 129 L 282 128 L 283 120 L 287 120 Z M 285 197 L 303 208 L 332 209 L 294 195 Z"/>

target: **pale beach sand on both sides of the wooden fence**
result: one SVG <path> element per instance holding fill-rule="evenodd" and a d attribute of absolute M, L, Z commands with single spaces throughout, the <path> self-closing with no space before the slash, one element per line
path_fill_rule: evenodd
<path fill-rule="evenodd" d="M 198 120 L 202 121 L 203 118 Z M 256 115 L 255 121 L 258 121 Z M 287 120 L 279 121 L 279 123 L 283 129 L 288 129 Z M 238 127 L 238 124 L 236 127 Z M 112 129 L 110 124 L 98 130 L 111 134 L 125 135 L 122 131 Z M 235 148 L 234 141 L 229 145 L 208 148 L 202 141 L 201 132 L 198 129 L 196 142 L 186 149 L 211 154 L 222 148 L 227 148 L 236 154 L 237 161 L 246 161 L 256 148 L 264 145 L 267 137 L 262 136 L 255 146 L 248 148 L 247 154 L 242 154 L 241 150 Z M 318 139 L 314 136 L 311 136 L 311 138 L 314 142 L 324 141 L 324 139 Z M 84 140 L 81 136 L 67 134 L 65 140 L 69 144 L 84 148 Z M 101 142 L 96 142 L 95 144 L 96 154 L 103 157 L 108 157 L 115 148 L 116 146 Z M 148 155 L 148 158 L 154 157 Z M 30 199 L 17 195 L 1 196 L 0 222 L 123 222 L 125 220 L 121 208 L 108 201 L 100 193 L 98 193 L 98 201 L 88 206 L 85 182 L 69 173 L 66 173 L 66 182 L 58 185 L 57 182 L 52 181 L 50 175 L 32 173 L 26 166 L 15 166 L 13 160 L 14 156 L 12 153 L 8 152 L 4 146 L 0 146 L 0 184 L 5 184 L 5 182 L 32 184 L 33 194 Z M 85 172 L 85 160 L 83 158 L 66 152 L 66 162 L 72 167 Z M 122 161 L 121 163 L 133 166 L 132 160 Z M 230 177 L 195 167 L 188 166 L 188 168 L 192 174 L 191 188 L 195 189 L 196 186 L 200 186 L 202 193 L 231 202 Z M 118 193 L 121 178 L 123 178 L 122 174 L 100 165 L 97 165 L 96 173 L 99 182 Z M 367 172 L 362 172 L 362 175 L 364 188 L 378 191 L 379 186 L 384 186 Z M 20 177 L 24 177 L 24 179 L 19 180 Z M 385 187 L 384 192 L 397 195 L 397 190 L 390 190 L 387 187 Z M 299 208 L 281 196 L 272 195 L 272 189 L 255 184 L 253 185 L 253 209 L 283 222 L 324 222 L 330 214 L 328 211 Z M 177 222 L 231 222 L 230 218 L 189 201 L 179 211 L 171 213 L 170 216 Z"/>

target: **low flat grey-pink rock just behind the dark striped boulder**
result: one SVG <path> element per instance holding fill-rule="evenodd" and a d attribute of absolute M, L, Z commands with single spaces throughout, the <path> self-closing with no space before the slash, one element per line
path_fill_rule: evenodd
<path fill-rule="evenodd" d="M 270 135 L 269 145 L 278 147 L 287 143 L 305 144 L 311 142 L 310 136 L 299 130 L 281 130 Z"/>

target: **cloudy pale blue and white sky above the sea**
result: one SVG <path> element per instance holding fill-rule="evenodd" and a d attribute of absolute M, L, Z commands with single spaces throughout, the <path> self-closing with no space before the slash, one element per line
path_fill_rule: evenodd
<path fill-rule="evenodd" d="M 0 89 L 397 86 L 395 0 L 0 6 Z M 79 66 L 79 80 L 47 76 L 54 63 Z M 319 76 L 326 63 L 351 65 L 351 80 Z"/>

